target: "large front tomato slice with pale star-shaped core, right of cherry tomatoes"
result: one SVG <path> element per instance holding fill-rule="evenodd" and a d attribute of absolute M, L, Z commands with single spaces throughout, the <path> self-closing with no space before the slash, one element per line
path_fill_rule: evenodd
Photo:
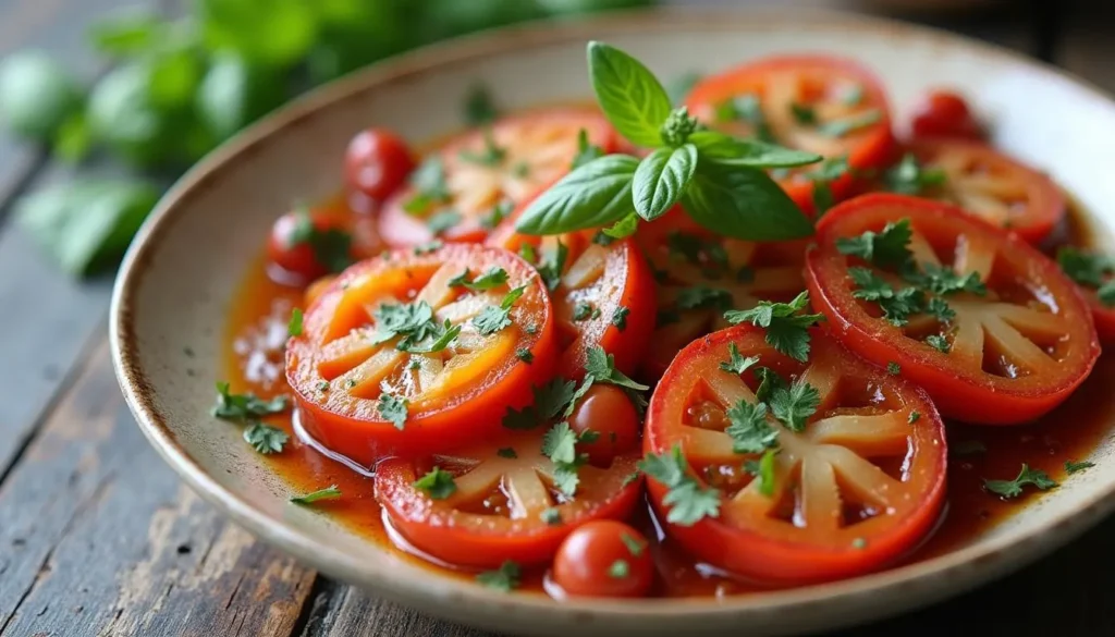
<path fill-rule="evenodd" d="M 729 346 L 757 356 L 726 371 Z M 758 454 L 735 452 L 727 411 L 755 403 L 754 369 L 817 390 L 799 432 L 768 412 L 777 432 L 769 473 L 741 469 Z M 767 398 L 772 400 L 772 398 Z M 648 453 L 680 448 L 701 488 L 720 492 L 719 514 L 666 532 L 699 559 L 763 581 L 817 581 L 882 568 L 913 549 L 937 521 L 946 489 L 944 425 L 924 392 L 812 330 L 808 364 L 775 351 L 752 326 L 718 331 L 678 355 L 650 402 Z M 750 463 L 748 463 L 750 465 Z M 665 520 L 669 490 L 648 480 Z"/>

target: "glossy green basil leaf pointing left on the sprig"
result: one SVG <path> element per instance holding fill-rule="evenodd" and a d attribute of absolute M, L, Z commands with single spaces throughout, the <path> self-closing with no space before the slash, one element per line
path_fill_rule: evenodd
<path fill-rule="evenodd" d="M 605 155 L 574 170 L 523 211 L 515 230 L 524 234 L 559 234 L 599 228 L 633 210 L 631 180 L 639 160 Z"/>

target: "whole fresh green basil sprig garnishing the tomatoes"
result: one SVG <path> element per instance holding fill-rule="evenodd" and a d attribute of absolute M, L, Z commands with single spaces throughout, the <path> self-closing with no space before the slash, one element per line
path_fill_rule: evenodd
<path fill-rule="evenodd" d="M 589 75 L 612 126 L 650 148 L 639 160 L 598 157 L 559 180 L 520 215 L 524 234 L 560 234 L 634 216 L 653 221 L 678 202 L 714 232 L 752 241 L 813 234 L 813 223 L 764 168 L 803 166 L 822 157 L 758 139 L 707 131 L 686 107 L 672 108 L 646 66 L 602 42 L 589 42 Z"/>

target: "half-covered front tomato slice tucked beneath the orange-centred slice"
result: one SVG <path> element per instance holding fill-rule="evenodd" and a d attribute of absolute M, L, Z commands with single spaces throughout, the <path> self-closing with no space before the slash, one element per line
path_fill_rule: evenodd
<path fill-rule="evenodd" d="M 405 543 L 474 568 L 549 562 L 580 524 L 623 519 L 638 503 L 637 453 L 605 469 L 579 467 L 569 498 L 554 486 L 554 465 L 541 450 L 542 433 L 526 432 L 427 461 L 390 459 L 376 469 L 376 499 Z M 456 489 L 448 498 L 436 500 L 415 488 L 433 466 L 454 474 Z"/>

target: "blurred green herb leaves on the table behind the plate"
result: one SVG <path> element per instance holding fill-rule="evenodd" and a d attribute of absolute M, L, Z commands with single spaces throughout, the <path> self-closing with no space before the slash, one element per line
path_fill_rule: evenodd
<path fill-rule="evenodd" d="M 0 122 L 59 160 L 78 163 L 103 151 L 135 176 L 32 193 L 18 202 L 17 220 L 66 271 L 112 268 L 157 199 L 153 184 L 301 91 L 444 38 L 650 3 L 197 0 L 174 20 L 117 15 L 89 31 L 93 48 L 113 64 L 93 86 L 39 51 L 0 60 Z"/>

